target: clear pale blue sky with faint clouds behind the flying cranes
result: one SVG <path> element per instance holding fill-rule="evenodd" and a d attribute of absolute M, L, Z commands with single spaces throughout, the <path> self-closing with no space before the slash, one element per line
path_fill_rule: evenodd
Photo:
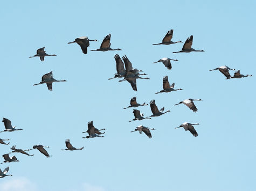
<path fill-rule="evenodd" d="M 112 191 L 112 190 L 255 190 L 255 1 L 5 1 L 1 22 L 0 117 L 24 129 L 1 133 L 10 138 L 0 145 L 1 155 L 16 145 L 50 146 L 52 157 L 38 150 L 20 153 L 17 163 L 1 164 L 8 174 L 0 180 L 2 191 Z M 153 46 L 173 29 L 173 41 L 193 35 L 195 49 L 205 52 L 172 54 L 183 43 Z M 121 51 L 91 52 L 107 34 L 111 47 Z M 67 42 L 87 35 L 88 54 Z M 36 54 L 45 47 L 41 62 Z M 133 67 L 150 79 L 137 80 L 137 92 L 128 82 L 108 80 L 116 73 L 114 55 L 127 55 Z M 162 57 L 177 59 L 172 70 Z M 227 65 L 253 77 L 226 80 L 219 71 Z M 53 71 L 53 91 L 39 83 Z M 231 71 L 233 75 L 234 71 Z M 183 91 L 155 94 L 162 78 Z M 134 118 L 129 105 L 155 99 L 158 108 L 171 112 L 151 120 Z M 195 101 L 198 112 L 178 105 Z M 149 106 L 138 107 L 146 116 Z M 83 139 L 87 123 L 106 128 L 105 137 Z M 195 126 L 198 137 L 183 128 Z M 130 133 L 143 125 L 152 138 Z M 0 124 L 4 129 L 4 124 Z M 61 151 L 69 138 L 84 150 Z M 12 155 L 11 155 L 12 156 Z M 3 158 L 1 159 L 2 162 Z"/>

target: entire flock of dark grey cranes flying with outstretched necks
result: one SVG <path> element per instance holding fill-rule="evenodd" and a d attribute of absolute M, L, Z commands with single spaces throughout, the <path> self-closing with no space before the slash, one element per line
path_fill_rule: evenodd
<path fill-rule="evenodd" d="M 180 42 L 182 43 L 182 41 L 176 41 L 176 42 L 171 41 L 173 32 L 174 32 L 173 30 L 168 31 L 167 34 L 164 36 L 162 42 L 156 43 L 156 44 L 153 44 L 153 45 L 171 45 L 171 44 L 174 44 L 174 43 L 180 43 Z M 103 41 L 101 43 L 100 48 L 95 49 L 95 50 L 91 50 L 91 51 L 103 51 L 103 52 L 105 52 L 105 51 L 109 51 L 109 50 L 121 50 L 120 48 L 117 48 L 117 49 L 110 48 L 110 45 L 111 45 L 110 38 L 111 38 L 111 34 L 108 34 L 107 36 L 105 36 L 105 38 L 103 39 Z M 89 47 L 89 42 L 90 41 L 98 41 L 98 40 L 89 40 L 87 38 L 87 36 L 82 36 L 80 38 L 75 39 L 73 42 L 68 42 L 68 44 L 78 43 L 78 45 L 82 49 L 82 53 L 87 54 L 87 49 Z M 186 39 L 186 41 L 185 41 L 185 43 L 182 47 L 182 50 L 180 50 L 178 52 L 173 52 L 173 53 L 204 52 L 204 50 L 193 49 L 192 48 L 192 42 L 193 42 L 193 36 L 191 35 L 191 36 L 189 36 L 188 39 Z M 45 49 L 45 47 L 39 48 L 37 50 L 37 54 L 34 55 L 34 56 L 30 56 L 29 58 L 39 57 L 40 61 L 43 62 L 45 60 L 45 56 L 56 56 L 55 54 L 51 54 L 51 55 L 47 54 L 44 49 Z M 127 81 L 132 86 L 132 89 L 134 91 L 137 91 L 136 79 L 149 79 L 147 77 L 145 77 L 145 78 L 141 77 L 141 76 L 144 76 L 144 75 L 147 75 L 147 74 L 144 74 L 144 73 L 140 74 L 140 72 L 142 72 L 142 70 L 133 68 L 132 63 L 129 61 L 129 59 L 126 55 L 122 56 L 122 58 L 121 58 L 118 54 L 115 54 L 114 58 L 115 58 L 115 62 L 116 62 L 116 74 L 114 74 L 114 77 L 109 78 L 109 80 L 114 79 L 114 78 L 123 78 L 123 79 L 119 80 L 119 82 Z M 154 63 L 162 62 L 168 70 L 171 70 L 172 66 L 171 66 L 170 61 L 178 61 L 178 60 L 174 60 L 174 59 L 164 57 L 164 58 L 161 58 L 160 60 L 158 60 L 157 62 L 154 62 Z M 229 70 L 235 70 L 235 69 L 231 69 L 231 68 L 227 67 L 226 65 L 218 67 L 216 69 L 212 69 L 210 71 L 213 71 L 213 70 L 219 70 L 220 72 L 222 72 L 222 74 L 224 74 L 226 79 L 244 78 L 244 77 L 252 76 L 252 75 L 242 75 L 242 74 L 240 74 L 240 70 L 237 70 L 236 72 L 234 72 L 234 75 L 231 77 L 231 75 L 229 73 Z M 66 82 L 66 80 L 65 79 L 64 80 L 54 79 L 52 71 L 51 71 L 51 72 L 49 72 L 49 73 L 47 73 L 47 74 L 45 74 L 41 77 L 41 82 L 39 82 L 38 84 L 34 84 L 34 85 L 46 84 L 48 90 L 52 91 L 52 83 L 53 82 Z M 160 92 L 156 92 L 156 94 L 183 90 L 183 89 L 174 89 L 174 86 L 175 86 L 175 83 L 172 83 L 170 85 L 168 76 L 164 76 L 163 77 L 163 90 L 161 90 Z M 190 99 L 185 99 L 183 101 L 178 102 L 178 104 L 175 104 L 175 105 L 184 104 L 187 107 L 189 107 L 191 111 L 197 112 L 198 109 L 197 109 L 197 107 L 196 107 L 196 105 L 193 101 L 202 101 L 202 99 L 191 99 L 191 98 Z M 130 120 L 129 122 L 136 121 L 136 120 L 140 121 L 140 120 L 151 119 L 151 117 L 161 116 L 165 113 L 170 112 L 169 110 L 164 112 L 164 107 L 162 107 L 159 110 L 158 107 L 156 106 L 155 100 L 151 100 L 149 104 L 150 104 L 151 112 L 153 113 L 152 115 L 150 115 L 148 117 L 144 117 L 144 114 L 141 113 L 140 110 L 133 109 L 133 114 L 134 114 L 135 118 L 133 120 Z M 139 107 L 139 106 L 148 106 L 148 104 L 146 104 L 146 102 L 144 102 L 143 104 L 138 104 L 137 101 L 136 101 L 136 97 L 133 97 L 132 99 L 130 99 L 130 105 L 128 107 L 123 108 L 123 109 L 136 108 L 136 107 Z M 4 122 L 5 129 L 3 131 L 0 131 L 0 133 L 23 130 L 23 129 L 16 129 L 15 128 L 16 126 L 12 127 L 11 121 L 9 119 L 4 118 L 4 117 L 3 117 L 2 122 Z M 190 133 L 193 136 L 196 137 L 196 136 L 198 136 L 198 134 L 197 134 L 197 131 L 195 130 L 194 126 L 198 125 L 198 124 L 199 123 L 184 122 L 179 127 L 176 127 L 176 128 L 182 128 L 183 127 L 186 131 L 189 130 Z M 94 127 L 93 121 L 90 121 L 90 122 L 88 122 L 87 131 L 82 132 L 82 133 L 86 133 L 88 135 L 85 136 L 85 137 L 82 137 L 82 138 L 103 137 L 103 134 L 105 134 L 105 131 L 102 133 L 101 132 L 102 130 L 105 130 L 105 128 L 97 129 L 97 128 Z M 140 125 L 140 126 L 136 127 L 136 129 L 131 131 L 131 132 L 139 131 L 140 134 L 142 134 L 142 132 L 143 132 L 144 134 L 146 134 L 148 136 L 148 138 L 151 138 L 152 135 L 151 135 L 150 130 L 155 130 L 155 129 Z M 9 145 L 10 143 L 5 142 L 5 141 L 9 141 L 9 140 L 10 139 L 1 139 L 0 138 L 0 144 Z M 82 146 L 81 148 L 78 148 L 78 149 L 75 148 L 70 143 L 70 139 L 66 139 L 65 144 L 66 144 L 66 149 L 61 149 L 61 150 L 74 151 L 74 150 L 84 149 L 84 146 Z M 9 156 L 9 154 L 13 153 L 13 152 L 19 152 L 19 153 L 22 153 L 22 154 L 27 155 L 27 156 L 33 156 L 33 155 L 30 155 L 29 153 L 26 152 L 26 151 L 30 151 L 30 150 L 33 150 L 33 149 L 37 149 L 39 152 L 41 152 L 47 158 L 51 157 L 49 155 L 49 153 L 46 151 L 45 148 L 49 148 L 49 146 L 44 146 L 44 145 L 39 144 L 39 145 L 33 145 L 33 147 L 31 149 L 22 150 L 22 149 L 16 149 L 16 146 L 13 145 L 11 147 L 12 152 L 6 153 L 2 156 L 4 158 L 3 163 L 11 163 L 11 162 L 19 161 L 16 156 L 11 156 L 11 157 Z M 3 164 L 3 163 L 1 163 L 1 164 Z M 7 174 L 8 171 L 9 171 L 9 167 L 6 167 L 4 169 L 4 171 L 2 171 L 0 169 L 0 178 L 4 178 L 6 176 L 12 176 L 12 175 Z"/>

